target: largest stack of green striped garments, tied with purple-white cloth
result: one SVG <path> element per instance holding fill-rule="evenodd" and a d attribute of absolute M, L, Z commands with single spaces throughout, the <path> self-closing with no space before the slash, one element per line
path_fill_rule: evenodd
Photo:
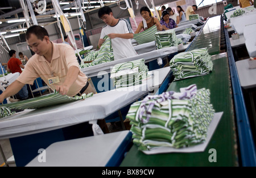
<path fill-rule="evenodd" d="M 166 92 L 135 102 L 126 118 L 130 119 L 133 143 L 146 151 L 205 142 L 213 115 L 210 91 L 191 85 L 181 88 L 180 93 Z"/>

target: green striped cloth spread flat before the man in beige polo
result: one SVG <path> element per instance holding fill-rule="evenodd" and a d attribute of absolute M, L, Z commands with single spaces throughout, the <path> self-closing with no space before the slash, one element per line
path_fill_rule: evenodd
<path fill-rule="evenodd" d="M 67 95 L 63 96 L 55 90 L 54 93 L 47 94 L 44 96 L 18 101 L 11 104 L 0 105 L 1 118 L 14 114 L 15 112 L 11 112 L 11 109 L 39 109 L 42 107 L 54 106 L 77 100 L 83 100 L 85 98 L 92 96 L 93 93 L 82 94 L 82 96 L 69 97 Z"/>

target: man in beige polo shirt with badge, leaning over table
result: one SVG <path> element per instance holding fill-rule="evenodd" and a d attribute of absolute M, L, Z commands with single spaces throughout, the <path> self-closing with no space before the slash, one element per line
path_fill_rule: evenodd
<path fill-rule="evenodd" d="M 28 28 L 26 40 L 35 55 L 28 60 L 20 76 L 0 95 L 0 102 L 18 93 L 25 84 L 33 85 L 38 77 L 52 90 L 69 97 L 96 93 L 88 77 L 81 72 L 71 45 L 51 42 L 47 30 L 41 26 Z M 102 120 L 101 127 L 105 127 L 105 120 Z"/>

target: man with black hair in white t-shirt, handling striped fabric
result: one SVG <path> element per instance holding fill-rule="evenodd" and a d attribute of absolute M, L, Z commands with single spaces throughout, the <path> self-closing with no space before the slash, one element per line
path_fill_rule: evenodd
<path fill-rule="evenodd" d="M 137 55 L 131 44 L 133 38 L 133 30 L 125 19 L 115 19 L 112 9 L 109 6 L 101 7 L 98 11 L 98 17 L 102 19 L 106 26 L 102 28 L 98 47 L 104 43 L 104 36 L 108 35 L 112 42 L 114 59 L 122 59 Z"/>

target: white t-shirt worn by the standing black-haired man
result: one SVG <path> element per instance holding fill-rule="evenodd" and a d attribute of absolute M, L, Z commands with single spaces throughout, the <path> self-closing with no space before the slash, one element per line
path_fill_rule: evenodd
<path fill-rule="evenodd" d="M 115 26 L 104 26 L 102 28 L 100 38 L 104 38 L 104 36 L 112 33 L 133 34 L 133 29 L 131 28 L 127 20 L 119 19 L 118 23 Z M 133 45 L 131 45 L 131 39 L 114 38 L 111 39 L 111 42 L 115 60 L 138 55 L 137 52 L 134 50 Z"/>

